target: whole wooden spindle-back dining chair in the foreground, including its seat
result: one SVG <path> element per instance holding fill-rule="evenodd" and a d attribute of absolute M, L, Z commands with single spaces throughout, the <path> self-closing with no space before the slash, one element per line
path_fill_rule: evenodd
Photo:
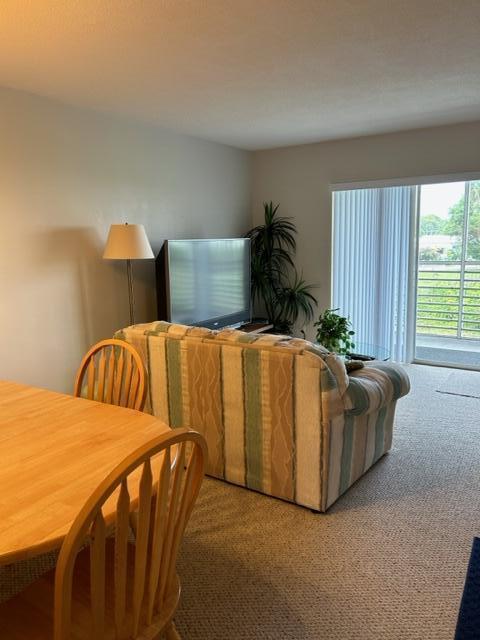
<path fill-rule="evenodd" d="M 56 570 L 0 605 L 0 636 L 179 639 L 173 623 L 180 597 L 176 557 L 205 460 L 205 440 L 188 429 L 158 436 L 129 455 L 81 509 Z M 134 482 L 138 500 L 130 498 Z M 116 512 L 110 522 L 102 508 L 112 496 Z M 138 511 L 135 544 L 129 538 L 133 509 Z"/>

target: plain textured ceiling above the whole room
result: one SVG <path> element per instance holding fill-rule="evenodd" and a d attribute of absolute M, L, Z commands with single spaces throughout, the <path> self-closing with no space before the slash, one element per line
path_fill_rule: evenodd
<path fill-rule="evenodd" d="M 480 0 L 1 0 L 0 85 L 245 149 L 480 119 Z"/>

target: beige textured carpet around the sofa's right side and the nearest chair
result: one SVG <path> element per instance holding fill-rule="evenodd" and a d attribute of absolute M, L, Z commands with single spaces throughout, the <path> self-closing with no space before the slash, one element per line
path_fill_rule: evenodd
<path fill-rule="evenodd" d="M 479 404 L 435 393 L 451 370 L 408 371 L 393 450 L 326 515 L 206 480 L 179 565 L 185 640 L 452 639 L 480 535 Z"/>

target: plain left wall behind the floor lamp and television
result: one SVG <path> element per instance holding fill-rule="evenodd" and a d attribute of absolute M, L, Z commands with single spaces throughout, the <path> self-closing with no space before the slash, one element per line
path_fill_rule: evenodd
<path fill-rule="evenodd" d="M 87 347 L 128 324 L 111 223 L 165 238 L 250 226 L 250 156 L 0 90 L 0 378 L 70 391 Z M 137 321 L 155 319 L 154 264 L 135 263 Z"/>

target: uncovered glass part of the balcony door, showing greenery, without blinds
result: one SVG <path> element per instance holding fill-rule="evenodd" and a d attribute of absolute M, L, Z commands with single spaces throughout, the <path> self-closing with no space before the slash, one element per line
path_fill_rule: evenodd
<path fill-rule="evenodd" d="M 480 181 L 419 192 L 417 361 L 480 368 Z"/>

